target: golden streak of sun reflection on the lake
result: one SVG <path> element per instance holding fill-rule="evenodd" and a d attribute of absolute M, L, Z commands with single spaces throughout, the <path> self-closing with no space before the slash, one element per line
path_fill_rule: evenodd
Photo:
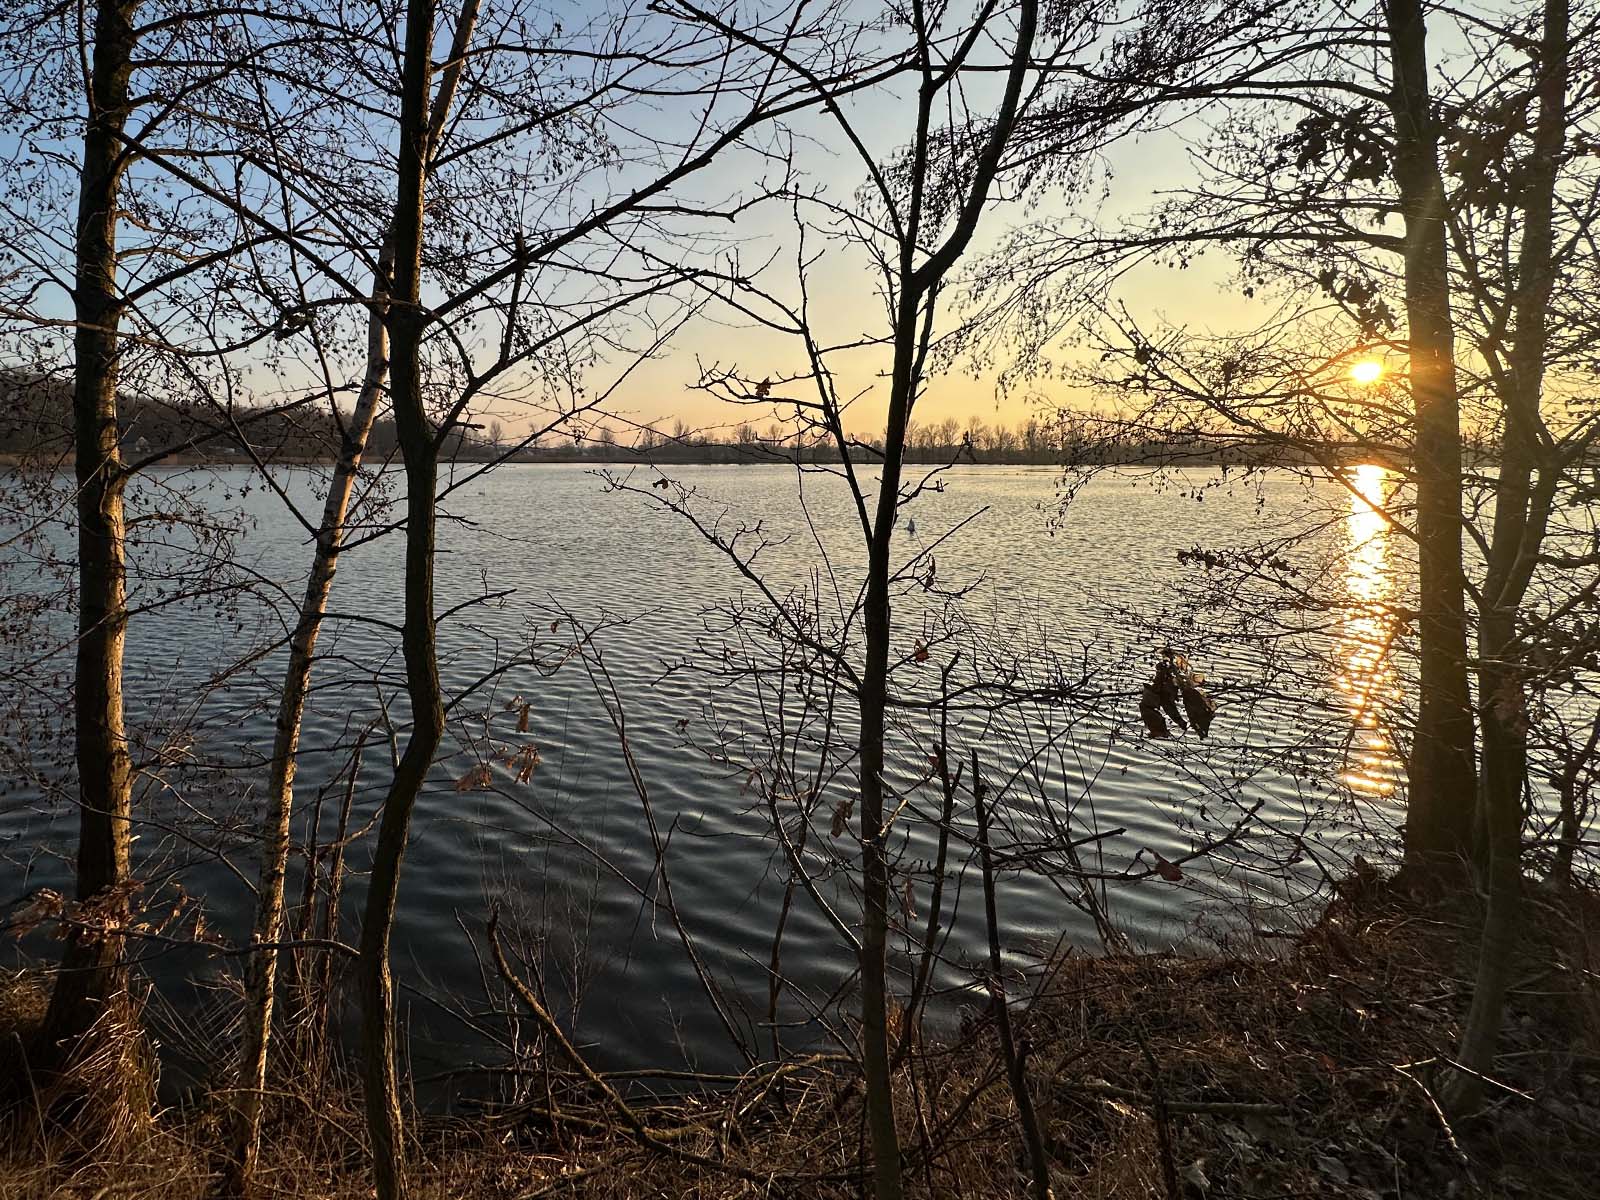
<path fill-rule="evenodd" d="M 1349 610 L 1339 632 L 1338 686 L 1355 718 L 1355 734 L 1342 778 L 1362 795 L 1386 797 L 1394 794 L 1400 778 L 1400 760 L 1382 720 L 1384 707 L 1400 698 L 1400 680 L 1390 654 L 1398 630 L 1390 606 L 1394 547 L 1389 518 L 1382 510 L 1394 494 L 1394 480 L 1384 467 L 1358 466 L 1350 472 L 1349 483 Z"/>

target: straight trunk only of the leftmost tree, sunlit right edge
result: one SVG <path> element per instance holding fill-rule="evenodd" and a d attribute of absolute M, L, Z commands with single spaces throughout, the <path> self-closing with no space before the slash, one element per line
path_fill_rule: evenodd
<path fill-rule="evenodd" d="M 118 450 L 117 198 L 126 166 L 120 133 L 128 118 L 128 77 L 136 3 L 94 10 L 90 114 L 78 176 L 75 366 L 72 421 L 77 445 L 78 646 L 74 693 L 78 766 L 77 898 L 115 928 L 128 912 L 133 770 L 122 712 L 126 635 L 123 467 Z M 120 939 L 77 934 L 67 942 L 45 1016 L 45 1045 L 59 1056 L 126 987 Z"/>

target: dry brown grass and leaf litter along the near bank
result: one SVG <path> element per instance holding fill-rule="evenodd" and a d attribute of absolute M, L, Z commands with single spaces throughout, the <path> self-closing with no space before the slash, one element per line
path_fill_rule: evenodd
<path fill-rule="evenodd" d="M 1435 1096 L 1472 978 L 1477 914 L 1350 880 L 1277 955 L 1067 957 L 1018 1014 L 1059 1200 L 1592 1197 L 1600 1178 L 1600 902 L 1530 886 L 1488 1110 Z M 16 1008 L 13 1005 L 13 1008 Z M 651 1099 L 554 1074 L 534 1102 L 422 1122 L 416 1197 L 851 1197 L 861 1093 L 811 1061 Z M 1027 1158 L 987 1019 L 901 1072 L 907 1186 L 1021 1197 Z M 682 1083 L 680 1083 L 682 1086 Z M 626 1104 L 632 1118 L 618 1110 Z M 637 1128 L 635 1128 L 637 1122 Z M 115 1141 L 37 1138 L 0 1197 L 203 1197 L 218 1114 L 168 1110 Z M 262 1195 L 370 1195 L 357 1106 L 280 1094 Z"/>

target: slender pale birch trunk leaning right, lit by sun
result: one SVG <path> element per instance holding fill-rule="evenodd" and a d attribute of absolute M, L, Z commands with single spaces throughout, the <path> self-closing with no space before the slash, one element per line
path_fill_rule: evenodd
<path fill-rule="evenodd" d="M 328 611 L 333 576 L 339 566 L 339 547 L 344 542 L 344 520 L 350 506 L 350 493 L 355 486 L 362 454 L 366 451 L 366 435 L 378 414 L 384 379 L 389 374 L 384 294 L 392 269 L 394 254 L 386 242 L 378 261 L 378 278 L 373 282 L 366 325 L 366 374 L 355 400 L 355 411 L 344 427 L 339 459 L 334 464 L 328 496 L 323 501 L 317 550 L 312 557 L 310 576 L 306 579 L 299 622 L 290 638 L 290 661 L 283 672 L 283 691 L 278 696 L 272 765 L 267 778 L 267 821 L 261 846 L 256 926 L 251 936 L 256 949 L 248 960 L 245 974 L 245 1027 L 235 1083 L 238 1091 L 230 1147 L 232 1163 L 227 1173 L 230 1192 L 238 1192 L 246 1186 L 254 1171 L 256 1147 L 261 1139 L 261 1099 L 267 1082 L 267 1050 L 272 1040 L 274 989 L 278 966 L 278 952 L 274 946 L 280 941 L 283 928 L 283 882 L 288 874 L 290 818 L 294 811 L 294 770 L 301 723 L 306 714 L 306 696 L 310 691 L 317 637 L 322 632 L 323 614 Z"/>

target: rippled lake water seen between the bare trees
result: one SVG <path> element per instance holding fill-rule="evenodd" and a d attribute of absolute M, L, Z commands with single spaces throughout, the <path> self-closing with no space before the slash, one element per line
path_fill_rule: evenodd
<path fill-rule="evenodd" d="M 861 560 L 859 525 L 837 480 L 806 475 L 797 488 L 794 470 L 781 466 L 672 467 L 670 475 L 694 490 L 693 507 L 706 526 L 723 536 L 747 531 L 741 547 L 754 549 L 750 531 L 760 522 L 765 549 L 755 568 L 778 594 L 811 587 L 824 610 L 848 608 Z M 640 496 L 608 491 L 581 467 L 515 466 L 462 482 L 446 501 L 438 608 L 466 606 L 442 626 L 443 680 L 451 696 L 466 698 L 451 712 L 450 739 L 418 805 L 395 933 L 419 1075 L 499 1056 L 485 1030 L 502 1030 L 504 1021 L 485 1000 L 478 958 L 496 899 L 528 930 L 546 986 L 598 1061 L 736 1062 L 669 914 L 656 902 L 656 854 L 613 723 L 582 662 L 571 654 L 562 662 L 574 643 L 563 613 L 598 629 L 594 645 L 622 702 L 627 742 L 669 843 L 683 922 L 731 1006 L 770 1046 L 768 962 L 789 870 L 760 787 L 752 786 L 749 754 L 763 742 L 765 728 L 755 691 L 749 680 L 715 669 L 728 646 L 765 645 L 755 616 L 760 595 L 688 522 L 650 502 L 667 494 L 648 486 L 653 478 L 651 470 L 634 470 Z M 1083 850 L 1085 866 L 1117 874 L 1149 866 L 1152 851 L 1184 858 L 1259 805 L 1259 824 L 1227 851 L 1187 864 L 1181 883 L 1146 877 L 1106 888 L 1112 918 L 1134 946 L 1222 936 L 1248 923 L 1242 915 L 1248 904 L 1262 906 L 1258 925 L 1282 926 L 1286 917 L 1270 906 L 1309 894 L 1322 878 L 1318 864 L 1339 870 L 1350 853 L 1373 853 L 1360 826 L 1395 818 L 1398 752 L 1389 723 L 1402 674 L 1395 662 L 1403 656 L 1392 653 L 1394 629 L 1382 606 L 1403 602 L 1410 568 L 1384 520 L 1360 499 L 1382 493 L 1382 472 L 1360 469 L 1352 482 L 1354 491 L 1290 474 L 1250 485 L 1226 483 L 1210 470 L 1165 485 L 1106 474 L 1056 515 L 1058 472 L 965 467 L 949 472 L 942 490 L 925 494 L 902 520 L 901 560 L 926 555 L 918 568 L 931 560 L 938 586 L 966 586 L 955 598 L 923 590 L 898 602 L 909 656 L 917 642 L 952 622 L 958 630 L 934 642 L 928 662 L 912 661 L 901 672 L 912 694 L 926 694 L 957 650 L 957 680 L 974 662 L 1046 674 L 1051 662 L 1064 662 L 1088 680 L 1085 694 L 1093 693 L 1093 704 L 955 715 L 952 750 L 965 757 L 970 746 L 979 747 L 986 774 L 1000 782 L 1029 762 L 1024 747 L 1054 738 L 1051 754 L 1034 758 L 1038 770 L 1026 773 L 1034 786 L 1016 779 L 1005 789 L 1003 842 L 1048 840 L 1051 819 L 1070 814 L 1075 837 L 1118 830 Z M 309 560 L 306 531 L 286 515 L 283 496 L 315 512 L 320 478 L 282 470 L 274 485 L 243 469 L 171 472 L 136 498 L 136 507 L 171 507 L 198 490 L 206 507 L 242 522 L 237 550 L 251 594 L 229 605 L 160 606 L 133 622 L 128 643 L 139 752 L 149 760 L 160 749 L 168 763 L 168 782 L 147 787 L 141 800 L 141 814 L 150 818 L 141 827 L 142 870 L 154 878 L 181 867 L 178 877 L 208 920 L 234 938 L 248 928 L 246 880 L 254 878 L 254 862 L 245 830 L 264 784 L 261 760 L 270 749 L 270 694 L 282 662 L 267 654 L 226 678 L 218 674 L 283 635 Z M 378 509 L 368 517 L 381 523 Z M 1301 571 L 1294 576 L 1301 584 L 1349 606 L 1278 605 L 1270 610 L 1278 634 L 1264 643 L 1240 635 L 1237 614 L 1211 611 L 1208 602 L 1219 598 L 1211 594 L 1214 582 L 1179 560 L 1192 547 L 1270 549 L 1275 538 L 1307 525 L 1318 533 L 1307 547 L 1283 550 L 1286 565 Z M 134 605 L 157 598 L 158 576 L 182 558 L 171 544 L 176 536 L 147 541 Z M 42 587 L 19 552 L 10 554 L 0 558 L 10 586 Z M 221 579 L 221 570 L 213 578 Z M 469 605 L 486 594 L 494 598 Z M 1254 606 L 1274 594 L 1264 587 L 1261 597 L 1235 598 Z M 741 606 L 736 626 L 730 613 Z M 333 608 L 298 795 L 309 805 L 318 789 L 326 790 L 325 816 L 331 816 L 349 744 L 376 725 L 354 792 L 360 829 L 374 818 L 389 778 L 386 709 L 402 741 L 405 733 L 402 666 L 394 632 L 382 624 L 400 619 L 398 536 L 365 541 L 344 557 Z M 46 637 L 64 619 L 61 611 L 43 614 L 37 638 L 6 651 L 8 669 L 26 662 L 42 677 L 67 664 L 70 650 L 51 659 Z M 754 640 L 742 643 L 746 635 Z M 1138 688 L 1163 642 L 1208 677 L 1219 710 L 1206 741 L 1192 733 L 1168 742 L 1142 736 Z M 534 643 L 538 667 L 526 662 Z M 46 709 L 40 702 L 30 738 L 46 736 Z M 523 712 L 526 731 L 517 728 Z M 184 733 L 173 734 L 174 723 Z M 917 814 L 936 811 L 936 789 L 915 786 L 926 776 L 930 738 L 928 717 L 917 712 L 904 714 L 891 738 L 891 782 L 909 797 L 899 822 L 899 837 L 909 838 L 899 845 L 907 864 L 931 861 L 934 851 L 934 829 Z M 523 782 L 517 774 L 531 763 L 530 746 L 541 762 Z M 483 763 L 488 778 L 474 779 Z M 43 774 L 70 787 L 69 763 L 46 762 Z M 462 781 L 493 786 L 462 790 Z M 856 910 L 845 862 L 850 837 L 834 840 L 827 829 L 835 800 L 850 790 L 848 763 L 832 789 L 805 853 L 819 875 L 819 894 L 848 920 Z M 37 787 L 11 790 L 3 803 L 6 899 L 62 886 L 62 859 L 38 848 L 70 853 L 70 805 Z M 965 806 L 963 795 L 962 813 Z M 331 829 L 328 819 L 323 824 Z M 298 821 L 296 835 L 302 832 Z M 1298 853 L 1296 837 L 1306 838 Z M 360 862 L 360 848 L 352 856 Z M 1282 870 L 1274 866 L 1286 859 L 1298 861 Z M 958 837 L 946 902 L 958 896 L 960 907 L 934 978 L 938 1019 L 958 1016 L 973 978 L 966 965 L 984 954 L 976 878 Z M 362 888 L 363 880 L 354 878 L 347 933 Z M 1059 944 L 1099 944 L 1094 923 L 1069 902 L 1075 891 L 1032 874 L 1005 880 L 1002 920 L 1016 966 Z M 914 882 L 907 901 L 906 912 L 920 926 L 926 878 Z M 790 986 L 779 1014 L 792 1024 L 787 1043 L 819 1035 L 811 1018 L 827 1013 L 850 966 L 826 914 L 797 893 L 782 942 Z M 149 970 L 162 994 L 203 1024 L 208 989 L 235 966 L 152 950 Z"/>

